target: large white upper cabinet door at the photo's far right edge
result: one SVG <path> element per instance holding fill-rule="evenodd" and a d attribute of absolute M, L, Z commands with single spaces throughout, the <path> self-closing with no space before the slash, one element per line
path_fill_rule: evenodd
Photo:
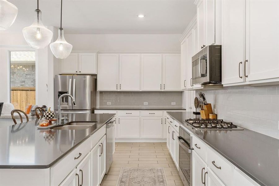
<path fill-rule="evenodd" d="M 278 12 L 278 0 L 246 0 L 246 81 L 279 78 Z"/>

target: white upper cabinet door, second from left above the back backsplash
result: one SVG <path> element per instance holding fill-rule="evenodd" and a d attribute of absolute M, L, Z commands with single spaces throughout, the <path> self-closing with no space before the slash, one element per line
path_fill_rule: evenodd
<path fill-rule="evenodd" d="M 140 90 L 140 54 L 120 54 L 119 90 Z"/>

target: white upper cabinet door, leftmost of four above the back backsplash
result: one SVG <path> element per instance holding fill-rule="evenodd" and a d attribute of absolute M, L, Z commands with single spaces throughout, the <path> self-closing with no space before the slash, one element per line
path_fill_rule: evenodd
<path fill-rule="evenodd" d="M 118 90 L 118 54 L 98 55 L 98 91 Z"/>

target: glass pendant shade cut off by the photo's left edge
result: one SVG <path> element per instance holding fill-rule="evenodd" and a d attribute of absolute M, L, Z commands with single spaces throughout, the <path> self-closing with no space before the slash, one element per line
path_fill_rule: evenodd
<path fill-rule="evenodd" d="M 0 0 L 0 30 L 7 30 L 14 23 L 18 9 L 7 0 Z"/>

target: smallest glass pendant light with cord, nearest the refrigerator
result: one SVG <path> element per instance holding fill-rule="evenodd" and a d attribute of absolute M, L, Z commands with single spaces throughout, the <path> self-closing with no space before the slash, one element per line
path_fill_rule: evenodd
<path fill-rule="evenodd" d="M 53 55 L 58 59 L 65 59 L 67 58 L 73 46 L 68 43 L 64 38 L 64 30 L 62 28 L 62 0 L 61 0 L 61 15 L 60 15 L 60 28 L 58 30 L 58 38 L 55 42 L 50 44 L 50 50 L 52 51 Z"/>

